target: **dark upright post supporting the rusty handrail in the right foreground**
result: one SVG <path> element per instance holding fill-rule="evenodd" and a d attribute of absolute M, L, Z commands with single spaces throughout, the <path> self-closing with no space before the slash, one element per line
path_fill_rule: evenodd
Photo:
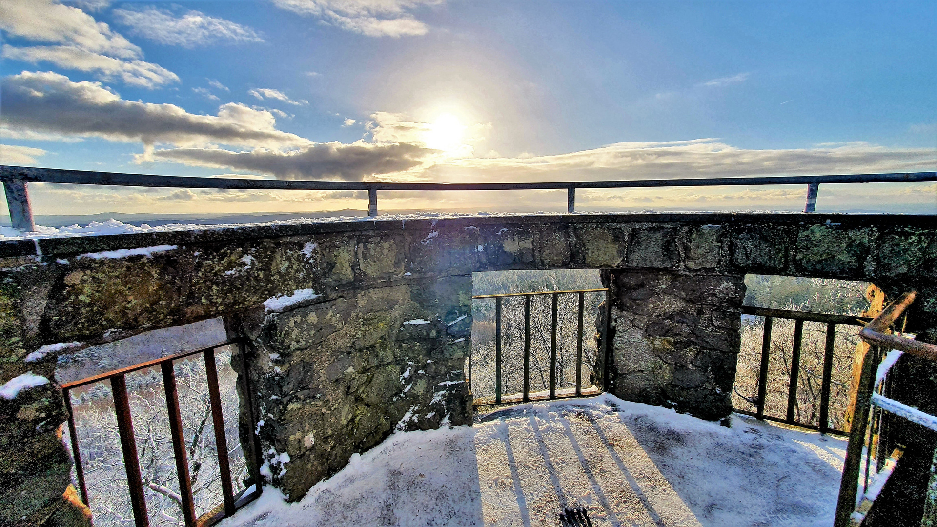
<path fill-rule="evenodd" d="M 866 352 L 862 359 L 862 372 L 859 375 L 859 385 L 855 390 L 855 409 L 853 411 L 853 426 L 849 433 L 849 444 L 846 445 L 846 459 L 842 466 L 842 479 L 840 480 L 840 497 L 836 504 L 834 527 L 847 527 L 855 510 L 855 493 L 859 486 L 859 470 L 862 464 L 862 447 L 866 441 L 866 426 L 869 422 L 870 396 L 872 383 L 875 378 L 875 367 L 872 364 L 872 350 Z"/>

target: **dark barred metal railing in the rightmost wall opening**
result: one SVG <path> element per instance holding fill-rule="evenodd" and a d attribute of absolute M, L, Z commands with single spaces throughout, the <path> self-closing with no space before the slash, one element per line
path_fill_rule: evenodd
<path fill-rule="evenodd" d="M 838 325 L 855 325 L 862 327 L 872 319 L 870 317 L 858 317 L 848 315 L 834 315 L 830 313 L 816 313 L 812 311 L 794 311 L 789 309 L 767 309 L 755 308 L 751 306 L 742 306 L 742 314 L 765 317 L 765 329 L 762 334 L 762 354 L 761 364 L 758 374 L 758 395 L 752 402 L 755 406 L 755 412 L 734 408 L 735 412 L 757 417 L 758 419 L 767 419 L 769 421 L 778 421 L 789 425 L 807 429 L 816 429 L 821 433 L 838 433 L 846 435 L 849 432 L 839 429 L 829 428 L 829 397 L 830 386 L 833 376 L 833 350 L 836 343 L 836 328 Z M 774 319 L 787 319 L 794 321 L 794 335 L 792 342 L 791 368 L 788 377 L 787 392 L 787 414 L 784 418 L 765 414 L 765 399 L 767 396 L 767 377 L 768 362 L 771 353 L 771 336 Z M 823 376 L 820 384 L 820 415 L 819 425 L 814 426 L 810 423 L 802 423 L 796 420 L 797 404 L 797 383 L 800 374 L 800 352 L 803 342 L 804 322 L 816 322 L 826 324 L 826 339 L 824 347 Z M 739 394 L 741 395 L 741 394 Z M 745 398 L 745 396 L 742 396 Z M 747 399 L 747 398 L 745 398 Z"/>

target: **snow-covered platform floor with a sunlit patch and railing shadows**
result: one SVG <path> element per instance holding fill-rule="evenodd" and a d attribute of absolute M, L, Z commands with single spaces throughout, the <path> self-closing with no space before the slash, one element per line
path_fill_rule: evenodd
<path fill-rule="evenodd" d="M 530 403 L 396 433 L 300 502 L 265 489 L 220 525 L 558 526 L 560 507 L 584 506 L 596 526 L 827 526 L 845 445 L 607 395 Z"/>

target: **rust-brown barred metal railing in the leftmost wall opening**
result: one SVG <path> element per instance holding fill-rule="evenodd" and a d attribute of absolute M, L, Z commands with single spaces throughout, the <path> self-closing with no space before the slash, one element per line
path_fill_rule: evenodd
<path fill-rule="evenodd" d="M 65 405 L 68 412 L 68 434 L 71 437 L 72 457 L 75 460 L 75 474 L 78 478 L 79 488 L 82 493 L 84 504 L 90 505 L 88 500 L 88 489 L 84 481 L 84 470 L 82 467 L 81 446 L 78 439 L 78 431 L 75 426 L 75 416 L 72 411 L 70 391 L 85 386 L 95 384 L 101 381 L 110 381 L 114 401 L 114 413 L 117 417 L 117 429 L 120 435 L 121 451 L 124 457 L 124 468 L 126 471 L 127 489 L 130 494 L 130 505 L 133 509 L 133 518 L 137 527 L 147 527 L 150 524 L 146 511 L 146 499 L 143 494 L 143 481 L 140 468 L 140 459 L 137 452 L 136 438 L 133 431 L 133 419 L 130 415 L 130 402 L 126 391 L 126 374 L 141 369 L 150 369 L 159 367 L 162 372 L 163 390 L 166 394 L 166 410 L 169 414 L 170 433 L 172 439 L 172 450 L 175 458 L 176 475 L 179 479 L 179 497 L 183 518 L 186 527 L 202 527 L 212 525 L 216 521 L 234 514 L 234 512 L 260 496 L 262 486 L 260 485 L 260 474 L 250 474 L 254 481 L 254 491 L 247 494 L 245 490 L 235 495 L 231 481 L 231 465 L 228 459 L 228 440 L 225 437 L 225 421 L 221 409 L 221 393 L 218 389 L 218 373 L 215 364 L 215 350 L 223 346 L 238 345 L 239 339 L 231 339 L 225 342 L 219 342 L 211 347 L 202 348 L 194 352 L 185 352 L 160 357 L 151 361 L 143 362 L 123 369 L 115 369 L 92 377 L 87 377 L 79 381 L 62 384 L 62 395 L 65 399 Z M 215 429 L 215 442 L 217 450 L 218 471 L 221 479 L 221 492 L 223 504 L 219 504 L 211 511 L 197 518 L 195 513 L 195 504 L 192 493 L 192 483 L 188 471 L 188 459 L 186 457 L 186 438 L 183 433 L 182 414 L 179 407 L 179 394 L 176 389 L 175 371 L 173 369 L 174 361 L 186 358 L 192 355 L 202 354 L 205 361 L 205 378 L 208 384 L 209 399 L 212 409 L 212 423 Z M 246 376 L 244 377 L 246 382 Z M 247 393 L 250 393 L 249 389 Z M 250 411 L 248 410 L 248 414 Z M 250 415 L 252 425 L 248 427 L 252 433 L 252 441 L 255 444 L 245 448 L 246 452 L 254 452 L 255 459 L 253 471 L 257 472 L 260 467 L 258 458 L 259 449 L 257 436 L 254 434 L 256 427 L 256 418 Z"/>

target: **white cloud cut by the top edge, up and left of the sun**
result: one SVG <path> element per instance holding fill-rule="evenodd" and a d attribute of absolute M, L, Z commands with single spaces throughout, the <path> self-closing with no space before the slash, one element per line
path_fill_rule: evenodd
<path fill-rule="evenodd" d="M 319 18 L 367 37 L 425 35 L 429 27 L 408 11 L 445 0 L 274 0 L 279 8 Z"/>

